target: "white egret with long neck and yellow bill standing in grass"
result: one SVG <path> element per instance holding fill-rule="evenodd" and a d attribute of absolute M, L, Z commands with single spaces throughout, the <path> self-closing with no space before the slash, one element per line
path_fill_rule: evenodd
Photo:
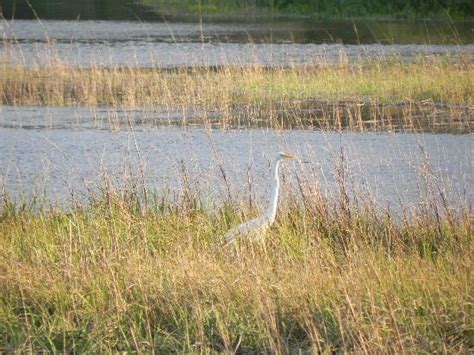
<path fill-rule="evenodd" d="M 263 237 L 267 229 L 275 221 L 278 193 L 280 190 L 280 178 L 278 177 L 278 169 L 280 162 L 285 159 L 295 159 L 292 155 L 279 152 L 273 162 L 271 172 L 271 190 L 270 190 L 270 201 L 266 211 L 259 217 L 252 219 L 248 222 L 239 224 L 237 227 L 229 230 L 225 235 L 226 245 L 235 242 L 236 240 L 243 237 L 253 237 L 259 241 L 263 241 Z"/>

